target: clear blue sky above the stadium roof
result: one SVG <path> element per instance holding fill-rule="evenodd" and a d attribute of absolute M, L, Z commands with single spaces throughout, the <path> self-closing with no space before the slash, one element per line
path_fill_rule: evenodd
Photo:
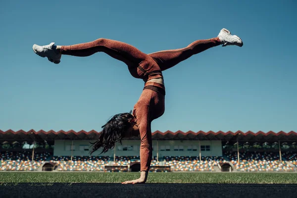
<path fill-rule="evenodd" d="M 297 131 L 294 0 L 2 1 L 0 129 L 92 129 L 133 109 L 144 83 L 104 53 L 62 56 L 33 44 L 107 38 L 146 53 L 178 49 L 229 29 L 242 48 L 208 49 L 163 72 L 165 113 L 152 131 Z"/>

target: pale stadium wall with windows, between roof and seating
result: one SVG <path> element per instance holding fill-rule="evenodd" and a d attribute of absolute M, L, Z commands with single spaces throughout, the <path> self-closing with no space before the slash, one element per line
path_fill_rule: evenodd
<path fill-rule="evenodd" d="M 71 151 L 71 140 L 55 140 L 54 141 L 54 156 L 89 156 L 89 149 L 93 140 L 74 140 L 73 151 Z M 157 155 L 157 142 L 159 157 L 163 156 L 199 156 L 199 141 L 196 140 L 153 140 L 153 156 Z M 222 156 L 221 141 L 200 141 L 201 156 Z M 123 140 L 122 145 L 116 144 L 116 156 L 139 156 L 140 140 Z M 92 154 L 99 155 L 101 151 L 96 151 Z M 114 149 L 100 156 L 110 156 L 114 154 Z"/>

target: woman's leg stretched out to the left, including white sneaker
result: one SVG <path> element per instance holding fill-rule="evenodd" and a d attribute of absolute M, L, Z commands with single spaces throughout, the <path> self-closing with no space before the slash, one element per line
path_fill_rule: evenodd
<path fill-rule="evenodd" d="M 42 57 L 48 57 L 49 61 L 56 64 L 60 62 L 61 54 L 90 56 L 99 51 L 123 61 L 128 66 L 139 64 L 142 60 L 148 58 L 148 54 L 143 53 L 139 49 L 129 44 L 110 39 L 97 39 L 93 42 L 71 46 L 54 46 L 54 43 L 48 46 L 34 45 L 33 50 Z"/>

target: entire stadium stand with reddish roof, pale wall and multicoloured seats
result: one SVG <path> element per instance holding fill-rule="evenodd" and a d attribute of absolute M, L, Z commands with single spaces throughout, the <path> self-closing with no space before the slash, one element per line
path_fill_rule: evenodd
<path fill-rule="evenodd" d="M 139 171 L 140 139 L 89 155 L 96 131 L 1 131 L 1 171 Z M 297 171 L 297 133 L 152 133 L 150 171 Z M 24 145 L 32 147 L 24 148 Z"/>

